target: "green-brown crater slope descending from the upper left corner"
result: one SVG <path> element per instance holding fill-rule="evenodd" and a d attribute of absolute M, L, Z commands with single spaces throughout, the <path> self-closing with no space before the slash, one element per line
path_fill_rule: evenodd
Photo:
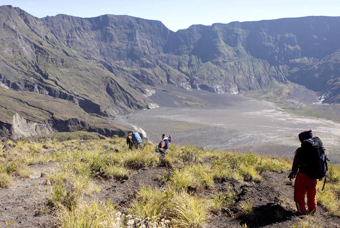
<path fill-rule="evenodd" d="M 4 21 L 0 81 L 4 86 L 68 100 L 101 116 L 146 108 L 151 102 L 129 81 L 116 76 L 115 70 L 110 72 L 57 40 L 43 20 L 8 6 L 0 12 Z M 107 93 L 112 84 L 117 93 Z"/>

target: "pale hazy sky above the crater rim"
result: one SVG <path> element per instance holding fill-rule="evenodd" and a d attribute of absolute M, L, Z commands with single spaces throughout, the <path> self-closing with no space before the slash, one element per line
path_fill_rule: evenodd
<path fill-rule="evenodd" d="M 339 0 L 0 0 L 36 17 L 130 15 L 160 20 L 173 31 L 193 24 L 302 16 L 340 16 Z"/>

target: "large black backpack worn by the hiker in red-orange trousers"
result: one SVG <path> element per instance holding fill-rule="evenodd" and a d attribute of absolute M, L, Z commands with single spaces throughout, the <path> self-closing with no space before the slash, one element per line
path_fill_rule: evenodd
<path fill-rule="evenodd" d="M 328 158 L 319 137 L 306 139 L 301 144 L 303 170 L 311 179 L 321 179 L 326 176 Z"/>

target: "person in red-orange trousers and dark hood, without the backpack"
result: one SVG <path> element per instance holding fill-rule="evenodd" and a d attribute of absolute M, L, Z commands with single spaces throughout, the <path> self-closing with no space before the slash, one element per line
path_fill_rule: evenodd
<path fill-rule="evenodd" d="M 304 140 L 313 138 L 312 130 L 306 130 L 299 134 L 299 139 L 301 143 Z M 306 168 L 304 166 L 304 158 L 302 157 L 301 147 L 297 148 L 294 156 L 294 161 L 292 165 L 292 171 L 288 178 L 290 181 L 295 179 L 294 182 L 294 201 L 296 204 L 296 209 L 300 214 L 306 214 L 305 207 L 305 195 L 307 193 L 307 207 L 308 213 L 314 213 L 317 210 L 317 184 L 318 179 L 311 179 L 306 175 Z"/>

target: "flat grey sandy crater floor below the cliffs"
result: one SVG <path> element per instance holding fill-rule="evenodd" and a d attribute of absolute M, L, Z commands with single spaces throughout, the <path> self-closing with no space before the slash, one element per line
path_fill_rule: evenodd
<path fill-rule="evenodd" d="M 331 163 L 340 163 L 339 123 L 281 112 L 271 103 L 241 96 L 219 94 L 218 99 L 237 102 L 208 108 L 159 107 L 120 116 L 118 121 L 145 131 L 152 142 L 171 134 L 181 145 L 283 157 L 293 157 L 300 146 L 299 132 L 312 129 L 324 142 Z"/>

